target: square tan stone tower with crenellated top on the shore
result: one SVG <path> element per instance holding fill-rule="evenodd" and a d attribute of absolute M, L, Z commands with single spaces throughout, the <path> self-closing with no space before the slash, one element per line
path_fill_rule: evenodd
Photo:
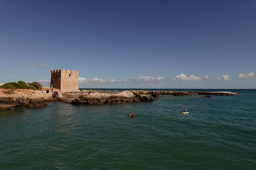
<path fill-rule="evenodd" d="M 51 86 L 62 92 L 78 91 L 77 71 L 51 70 Z"/>

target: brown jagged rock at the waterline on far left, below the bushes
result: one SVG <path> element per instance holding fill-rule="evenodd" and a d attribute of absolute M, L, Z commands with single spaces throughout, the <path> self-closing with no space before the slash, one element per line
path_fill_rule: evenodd
<path fill-rule="evenodd" d="M 8 97 L 0 97 L 0 110 L 6 110 L 12 107 L 22 107 L 26 100 L 27 96 L 8 96 Z"/>

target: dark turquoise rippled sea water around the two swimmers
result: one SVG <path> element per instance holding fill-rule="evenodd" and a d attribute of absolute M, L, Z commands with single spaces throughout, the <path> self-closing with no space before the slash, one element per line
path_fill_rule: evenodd
<path fill-rule="evenodd" d="M 164 90 L 237 95 L 0 111 L 0 169 L 256 169 L 256 90 Z"/>

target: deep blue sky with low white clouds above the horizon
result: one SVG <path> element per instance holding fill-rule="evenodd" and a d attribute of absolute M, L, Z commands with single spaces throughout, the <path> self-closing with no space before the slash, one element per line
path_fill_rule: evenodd
<path fill-rule="evenodd" d="M 0 0 L 0 83 L 256 88 L 256 1 Z M 254 74 L 255 73 L 255 74 Z"/>

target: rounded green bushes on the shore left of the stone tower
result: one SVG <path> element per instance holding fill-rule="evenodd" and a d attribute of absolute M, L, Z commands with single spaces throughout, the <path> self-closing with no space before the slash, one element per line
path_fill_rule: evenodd
<path fill-rule="evenodd" d="M 43 85 L 38 82 L 25 83 L 24 81 L 18 81 L 17 83 L 15 82 L 5 83 L 4 85 L 1 85 L 0 88 L 12 89 L 12 90 L 16 90 L 16 89 L 42 90 Z"/>

